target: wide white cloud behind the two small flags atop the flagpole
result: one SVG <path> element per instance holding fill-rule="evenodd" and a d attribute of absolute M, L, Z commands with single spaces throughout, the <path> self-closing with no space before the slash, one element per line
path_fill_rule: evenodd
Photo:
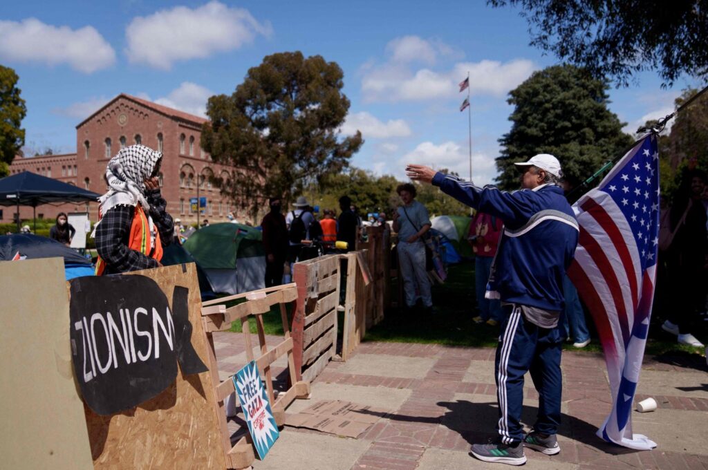
<path fill-rule="evenodd" d="M 459 84 L 469 71 L 470 92 L 473 95 L 505 96 L 536 69 L 527 59 L 509 62 L 482 60 L 459 62 L 452 69 L 413 69 L 411 62 L 419 60 L 433 64 L 441 55 L 454 55 L 450 47 L 437 45 L 417 36 L 396 38 L 387 45 L 388 62 L 362 67 L 362 92 L 365 101 L 425 101 L 458 96 Z"/>

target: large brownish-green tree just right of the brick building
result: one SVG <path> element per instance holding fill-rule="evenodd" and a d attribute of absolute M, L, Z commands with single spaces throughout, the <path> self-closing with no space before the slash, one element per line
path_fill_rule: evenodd
<path fill-rule="evenodd" d="M 363 142 L 360 132 L 338 132 L 349 109 L 342 87 L 336 62 L 282 52 L 249 69 L 231 96 L 209 98 L 202 148 L 235 168 L 222 191 L 255 211 L 269 196 L 291 200 L 341 171 Z"/>

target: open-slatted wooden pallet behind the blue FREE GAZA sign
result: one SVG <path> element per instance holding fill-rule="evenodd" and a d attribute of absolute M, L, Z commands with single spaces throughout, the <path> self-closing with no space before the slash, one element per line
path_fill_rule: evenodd
<path fill-rule="evenodd" d="M 245 302 L 236 304 L 227 308 L 224 302 L 233 301 L 236 299 L 245 299 Z M 295 284 L 287 284 L 278 287 L 268 287 L 252 292 L 244 292 L 230 297 L 222 297 L 220 299 L 211 300 L 202 304 L 202 326 L 204 338 L 209 348 L 207 348 L 207 356 L 211 375 L 212 389 L 215 394 L 215 408 L 218 427 L 221 430 L 219 442 L 224 449 L 227 457 L 229 468 L 246 469 L 251 466 L 256 457 L 253 452 L 253 444 L 251 436 L 246 433 L 241 437 L 236 445 L 231 445 L 231 436 L 227 428 L 226 406 L 224 401 L 229 395 L 234 393 L 234 382 L 231 377 L 222 382 L 219 379 L 219 369 L 217 366 L 217 358 L 214 350 L 214 339 L 212 333 L 214 331 L 227 331 L 231 328 L 234 321 L 241 321 L 241 330 L 246 343 L 246 359 L 250 362 L 256 361 L 258 372 L 265 379 L 265 387 L 268 391 L 268 400 L 270 407 L 273 408 L 273 417 L 278 426 L 285 424 L 285 408 L 292 403 L 296 398 L 309 398 L 309 382 L 299 381 L 297 377 L 297 368 L 293 357 L 293 338 L 290 336 L 290 328 L 287 321 L 287 311 L 285 304 L 288 302 L 295 306 L 297 300 L 297 288 Z M 282 328 L 285 331 L 284 340 L 275 348 L 268 348 L 265 344 L 265 331 L 263 329 L 263 314 L 270 312 L 270 307 L 279 304 L 280 318 L 282 320 Z M 258 344 L 261 347 L 261 355 L 253 356 L 253 345 L 251 340 L 251 332 L 249 329 L 249 317 L 253 316 L 256 320 L 258 329 Z M 238 334 L 238 333 L 234 333 Z M 273 392 L 273 377 L 270 373 L 270 365 L 279 357 L 287 355 L 287 369 L 289 373 L 290 384 L 292 386 L 284 394 L 279 394 L 278 399 L 275 399 Z M 245 364 L 244 364 L 245 365 Z M 237 371 L 234 370 L 233 374 Z"/>

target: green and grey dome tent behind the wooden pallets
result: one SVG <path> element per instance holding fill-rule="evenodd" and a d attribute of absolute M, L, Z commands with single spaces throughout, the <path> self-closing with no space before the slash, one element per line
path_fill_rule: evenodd
<path fill-rule="evenodd" d="M 241 224 L 202 227 L 184 242 L 214 292 L 240 294 L 265 287 L 265 251 L 260 230 Z"/>

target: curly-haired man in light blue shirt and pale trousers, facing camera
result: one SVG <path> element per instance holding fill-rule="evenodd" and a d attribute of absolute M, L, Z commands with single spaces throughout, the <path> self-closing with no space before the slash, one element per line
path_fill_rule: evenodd
<path fill-rule="evenodd" d="M 416 201 L 416 187 L 411 183 L 399 185 L 396 193 L 403 205 L 394 212 L 394 231 L 398 233 L 397 244 L 399 273 L 406 291 L 406 306 L 411 309 L 421 299 L 426 309 L 433 308 L 430 295 L 430 280 L 426 272 L 426 246 L 423 236 L 432 224 L 426 206 Z"/>

